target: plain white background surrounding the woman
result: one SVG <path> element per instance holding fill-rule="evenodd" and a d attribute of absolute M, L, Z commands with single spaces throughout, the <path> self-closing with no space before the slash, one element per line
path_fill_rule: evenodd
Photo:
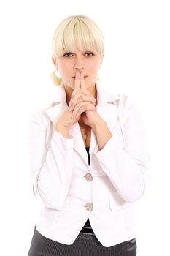
<path fill-rule="evenodd" d="M 150 146 L 150 189 L 136 203 L 138 256 L 169 255 L 169 1 L 0 2 L 1 255 L 25 256 L 41 208 L 31 194 L 27 124 L 55 96 L 51 39 L 63 18 L 84 14 L 104 33 L 104 88 L 131 95 Z"/>

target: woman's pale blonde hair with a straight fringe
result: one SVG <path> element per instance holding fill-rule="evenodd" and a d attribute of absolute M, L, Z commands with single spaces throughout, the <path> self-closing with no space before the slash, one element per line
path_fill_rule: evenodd
<path fill-rule="evenodd" d="M 52 56 L 56 59 L 68 50 L 96 50 L 101 58 L 104 55 L 104 36 L 96 23 L 85 15 L 74 15 L 65 18 L 55 29 L 52 42 Z M 56 71 L 52 73 L 53 82 L 61 84 Z"/>

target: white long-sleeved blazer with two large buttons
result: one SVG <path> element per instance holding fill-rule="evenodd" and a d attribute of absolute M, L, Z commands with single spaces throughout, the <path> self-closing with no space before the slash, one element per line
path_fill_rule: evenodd
<path fill-rule="evenodd" d="M 67 108 L 63 85 L 28 123 L 33 191 L 44 204 L 36 230 L 63 244 L 74 242 L 88 218 L 103 246 L 136 237 L 133 206 L 144 194 L 150 158 L 144 127 L 128 97 L 96 89 L 96 108 L 112 138 L 99 150 L 92 130 L 90 165 L 78 122 L 69 139 L 54 129 Z"/>

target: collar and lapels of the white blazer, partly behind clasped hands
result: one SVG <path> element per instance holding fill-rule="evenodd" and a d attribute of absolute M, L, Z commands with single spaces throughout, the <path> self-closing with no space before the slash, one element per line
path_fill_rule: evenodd
<path fill-rule="evenodd" d="M 97 90 L 97 110 L 100 114 L 101 118 L 104 118 L 104 120 L 109 125 L 109 128 L 112 129 L 112 127 L 115 126 L 115 123 L 117 121 L 117 116 L 114 116 L 114 113 L 112 111 L 112 104 L 117 100 L 121 98 L 120 95 L 114 95 L 109 94 L 107 91 L 104 91 L 101 86 L 96 83 L 96 90 Z M 46 108 L 45 113 L 50 118 L 50 120 L 55 125 L 58 118 L 61 116 L 61 113 L 63 113 L 68 108 L 68 105 L 66 103 L 66 92 L 63 87 L 63 84 L 61 86 L 58 86 L 56 88 L 56 94 L 55 94 L 55 101 L 50 103 L 50 106 Z M 111 118 L 112 116 L 112 118 Z M 85 150 L 85 146 L 82 140 L 82 135 L 80 132 L 80 126 L 78 122 L 69 130 L 69 134 L 71 138 L 74 138 L 74 149 L 81 154 L 82 158 L 85 159 L 85 162 L 88 162 L 88 154 Z M 96 136 L 93 133 L 93 130 L 91 131 L 91 140 L 90 140 L 90 156 L 94 152 L 98 151 L 98 145 L 96 141 Z"/>

